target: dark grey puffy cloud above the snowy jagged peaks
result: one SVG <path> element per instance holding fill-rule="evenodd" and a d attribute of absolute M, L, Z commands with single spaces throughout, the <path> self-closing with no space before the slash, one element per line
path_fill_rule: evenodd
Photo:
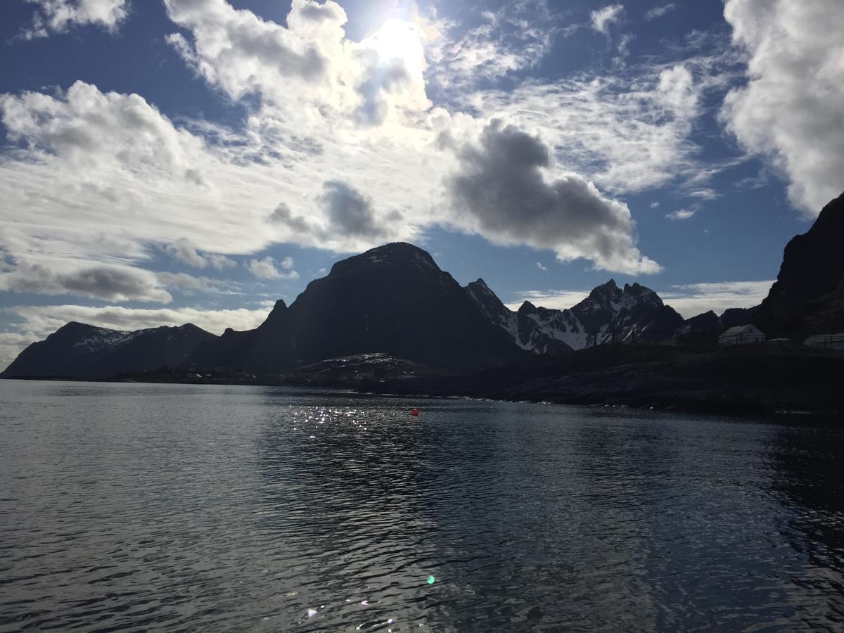
<path fill-rule="evenodd" d="M 627 205 L 582 176 L 552 177 L 551 154 L 539 138 L 493 121 L 458 156 L 459 170 L 448 180 L 453 204 L 482 235 L 550 249 L 561 261 L 584 257 L 607 270 L 662 269 L 636 248 Z"/>

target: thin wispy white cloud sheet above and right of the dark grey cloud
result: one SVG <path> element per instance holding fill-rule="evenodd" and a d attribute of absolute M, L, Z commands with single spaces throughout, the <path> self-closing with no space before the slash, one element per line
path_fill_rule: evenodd
<path fill-rule="evenodd" d="M 511 91 L 467 95 L 483 116 L 502 116 L 540 131 L 560 167 L 610 192 L 639 192 L 684 173 L 697 174 L 690 142 L 706 78 L 693 65 L 643 70 L 643 75 L 525 83 Z"/>

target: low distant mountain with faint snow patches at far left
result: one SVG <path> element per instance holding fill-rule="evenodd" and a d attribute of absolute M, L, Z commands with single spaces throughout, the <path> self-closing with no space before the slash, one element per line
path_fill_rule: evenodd
<path fill-rule="evenodd" d="M 0 377 L 106 378 L 154 370 L 181 365 L 216 338 L 192 323 L 124 332 L 69 322 L 24 349 Z"/>

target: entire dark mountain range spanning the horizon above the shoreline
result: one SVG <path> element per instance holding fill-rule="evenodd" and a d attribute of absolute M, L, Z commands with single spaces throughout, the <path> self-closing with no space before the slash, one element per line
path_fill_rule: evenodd
<path fill-rule="evenodd" d="M 190 323 L 121 332 L 71 322 L 31 344 L 0 377 L 106 378 L 162 365 L 273 374 L 378 352 L 453 371 L 568 354 L 596 345 L 667 341 L 753 322 L 773 336 L 844 330 L 844 194 L 785 250 L 761 306 L 685 320 L 657 293 L 614 280 L 566 310 L 508 309 L 483 279 L 465 288 L 430 254 L 387 244 L 334 264 L 291 306 L 276 302 L 254 330 L 217 337 Z"/>

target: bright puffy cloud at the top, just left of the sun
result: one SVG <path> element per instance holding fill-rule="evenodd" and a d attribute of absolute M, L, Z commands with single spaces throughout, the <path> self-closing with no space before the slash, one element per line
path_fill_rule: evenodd
<path fill-rule="evenodd" d="M 344 9 L 332 0 L 293 0 L 286 26 L 225 0 L 165 0 L 165 6 L 190 34 L 168 41 L 200 76 L 234 99 L 259 96 L 288 122 L 381 125 L 405 108 L 430 106 L 422 78 L 425 34 L 416 24 L 388 21 L 354 42 L 345 38 Z"/>

